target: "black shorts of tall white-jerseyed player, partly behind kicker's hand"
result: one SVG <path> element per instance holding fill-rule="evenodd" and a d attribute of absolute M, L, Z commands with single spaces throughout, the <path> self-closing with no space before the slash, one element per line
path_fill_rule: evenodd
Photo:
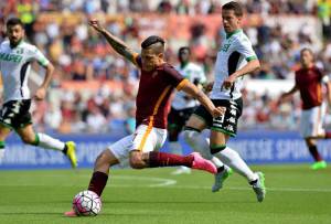
<path fill-rule="evenodd" d="M 197 107 L 194 115 L 203 119 L 210 129 L 235 137 L 237 134 L 237 122 L 243 113 L 243 99 L 212 99 L 212 102 L 215 107 L 221 106 L 226 108 L 223 116 L 213 118 L 202 105 Z"/>

